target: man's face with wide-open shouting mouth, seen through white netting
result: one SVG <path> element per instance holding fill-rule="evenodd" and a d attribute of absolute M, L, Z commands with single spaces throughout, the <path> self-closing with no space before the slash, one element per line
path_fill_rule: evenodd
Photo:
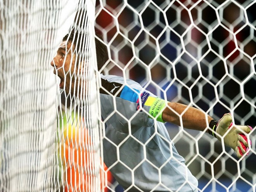
<path fill-rule="evenodd" d="M 54 67 L 54 74 L 57 74 L 61 79 L 59 87 L 66 90 L 66 93 L 74 93 L 75 72 L 75 54 L 71 42 L 64 41 L 59 45 L 57 54 L 51 62 Z"/>

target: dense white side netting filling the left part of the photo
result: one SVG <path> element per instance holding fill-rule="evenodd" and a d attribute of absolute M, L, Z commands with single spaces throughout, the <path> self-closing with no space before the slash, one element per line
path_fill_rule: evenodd
<path fill-rule="evenodd" d="M 94 18 L 93 0 L 0 0 L 0 191 L 102 188 Z M 74 74 L 50 66 L 71 31 L 82 37 Z"/>

